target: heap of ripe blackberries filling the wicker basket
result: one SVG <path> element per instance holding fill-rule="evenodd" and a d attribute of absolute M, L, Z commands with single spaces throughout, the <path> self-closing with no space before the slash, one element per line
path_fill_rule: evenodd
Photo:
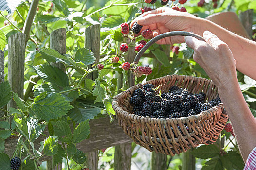
<path fill-rule="evenodd" d="M 205 102 L 205 93 L 190 93 L 187 89 L 172 86 L 169 92 L 161 95 L 152 84 L 143 85 L 134 91 L 130 98 L 133 113 L 151 118 L 181 118 L 197 115 L 221 103 L 219 97 Z"/>

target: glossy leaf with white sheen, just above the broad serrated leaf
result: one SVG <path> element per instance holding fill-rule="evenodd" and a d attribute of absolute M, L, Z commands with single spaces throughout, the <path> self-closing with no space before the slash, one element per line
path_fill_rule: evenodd
<path fill-rule="evenodd" d="M 38 65 L 33 66 L 37 74 L 47 82 L 60 87 L 69 86 L 69 79 L 65 72 L 57 67 L 52 67 L 50 65 Z"/>

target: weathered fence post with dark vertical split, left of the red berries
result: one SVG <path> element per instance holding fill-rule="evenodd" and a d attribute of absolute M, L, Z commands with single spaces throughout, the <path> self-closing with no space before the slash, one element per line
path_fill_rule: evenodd
<path fill-rule="evenodd" d="M 96 58 L 95 64 L 100 61 L 100 24 L 89 26 L 85 30 L 85 48 L 91 50 Z M 89 66 L 89 69 L 92 68 Z M 95 80 L 98 77 L 98 72 L 95 71 L 87 76 Z M 98 170 L 98 150 L 86 153 L 86 166 L 89 170 Z"/>

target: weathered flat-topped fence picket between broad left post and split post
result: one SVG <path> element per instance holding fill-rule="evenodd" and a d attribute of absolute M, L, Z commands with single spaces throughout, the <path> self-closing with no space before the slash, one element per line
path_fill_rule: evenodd
<path fill-rule="evenodd" d="M 66 29 L 65 28 L 59 28 L 57 30 L 54 30 L 51 33 L 50 47 L 51 49 L 58 51 L 60 54 L 66 54 Z M 51 62 L 51 65 L 65 71 L 65 67 L 61 62 L 58 62 L 58 63 Z"/>

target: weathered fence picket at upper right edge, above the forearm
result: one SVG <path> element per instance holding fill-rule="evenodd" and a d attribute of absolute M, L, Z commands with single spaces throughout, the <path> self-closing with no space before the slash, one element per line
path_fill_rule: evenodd
<path fill-rule="evenodd" d="M 250 39 L 252 39 L 252 35 L 253 35 L 253 30 L 252 30 L 253 14 L 254 14 L 254 10 L 249 9 L 247 11 L 241 12 L 239 16 L 246 32 L 249 34 Z"/>

